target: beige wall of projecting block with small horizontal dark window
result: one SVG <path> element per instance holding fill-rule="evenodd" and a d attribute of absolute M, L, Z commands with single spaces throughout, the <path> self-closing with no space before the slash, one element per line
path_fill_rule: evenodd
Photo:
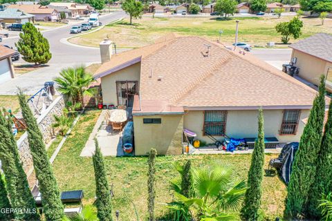
<path fill-rule="evenodd" d="M 161 124 L 143 124 L 143 118 L 161 118 Z M 156 148 L 159 155 L 182 153 L 183 115 L 133 116 L 135 154 Z"/>

